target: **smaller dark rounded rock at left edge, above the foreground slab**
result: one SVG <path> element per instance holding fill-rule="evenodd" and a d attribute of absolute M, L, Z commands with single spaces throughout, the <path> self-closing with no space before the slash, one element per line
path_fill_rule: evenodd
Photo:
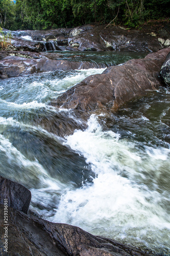
<path fill-rule="evenodd" d="M 4 204 L 4 199 L 8 199 L 8 206 L 27 214 L 31 201 L 30 190 L 16 182 L 0 176 L 0 191 L 1 204 Z"/>

